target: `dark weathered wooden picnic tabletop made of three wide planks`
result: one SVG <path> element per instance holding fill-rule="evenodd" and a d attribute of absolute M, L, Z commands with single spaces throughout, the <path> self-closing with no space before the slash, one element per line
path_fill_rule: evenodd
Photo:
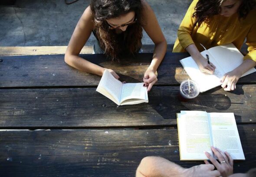
<path fill-rule="evenodd" d="M 168 51 L 149 103 L 119 107 L 95 92 L 100 76 L 68 66 L 63 54 L 1 56 L 1 176 L 135 176 L 141 159 L 151 155 L 184 168 L 202 164 L 179 160 L 181 110 L 233 112 L 246 158 L 235 161 L 234 172 L 255 168 L 256 73 L 241 78 L 233 92 L 217 87 L 181 102 L 179 84 L 188 76 L 179 60 L 187 56 Z M 112 68 L 121 80 L 142 82 L 152 53 L 120 63 L 101 54 L 81 57 Z"/>

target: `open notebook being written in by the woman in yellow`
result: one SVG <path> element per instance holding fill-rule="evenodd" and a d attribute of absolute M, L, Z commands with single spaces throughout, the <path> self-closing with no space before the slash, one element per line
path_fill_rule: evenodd
<path fill-rule="evenodd" d="M 208 50 L 202 51 L 201 54 L 203 57 L 206 57 L 206 54 L 208 54 L 210 62 L 216 66 L 213 75 L 200 72 L 197 63 L 192 57 L 180 60 L 188 76 L 199 84 L 200 92 L 205 92 L 221 85 L 222 83 L 220 82 L 220 79 L 224 74 L 234 70 L 237 66 L 240 66 L 240 64 L 243 63 L 243 54 L 241 54 L 232 43 L 212 47 Z M 256 69 L 252 68 L 244 73 L 243 76 L 255 71 Z"/>

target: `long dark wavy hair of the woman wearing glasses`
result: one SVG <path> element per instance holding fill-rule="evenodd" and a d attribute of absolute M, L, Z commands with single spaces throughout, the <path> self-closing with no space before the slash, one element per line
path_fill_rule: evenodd
<path fill-rule="evenodd" d="M 142 38 L 141 0 L 91 0 L 90 7 L 96 36 L 100 47 L 108 57 L 119 60 L 124 52 L 129 54 L 138 52 Z M 135 12 L 137 21 L 127 27 L 120 39 L 120 35 L 117 35 L 115 30 L 109 29 L 106 19 L 119 17 L 132 11 Z"/>

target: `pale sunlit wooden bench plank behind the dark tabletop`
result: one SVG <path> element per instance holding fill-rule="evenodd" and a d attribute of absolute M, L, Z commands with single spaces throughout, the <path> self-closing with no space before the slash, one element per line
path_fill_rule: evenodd
<path fill-rule="evenodd" d="M 172 51 L 174 44 L 167 44 L 167 51 Z M 0 56 L 13 55 L 57 55 L 65 54 L 67 46 L 25 46 L 25 47 L 0 47 Z M 154 45 L 142 45 L 144 53 L 153 53 Z M 92 54 L 93 46 L 84 46 L 80 54 Z"/>

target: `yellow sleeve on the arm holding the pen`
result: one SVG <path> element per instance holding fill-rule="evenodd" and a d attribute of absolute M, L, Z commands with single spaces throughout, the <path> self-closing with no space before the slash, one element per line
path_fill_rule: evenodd
<path fill-rule="evenodd" d="M 191 37 L 191 33 L 193 30 L 195 19 L 192 17 L 192 15 L 195 12 L 194 8 L 197 5 L 197 2 L 198 0 L 194 0 L 190 4 L 189 8 L 187 9 L 187 13 L 184 16 L 184 19 L 182 20 L 181 25 L 177 32 L 180 44 L 184 49 L 190 44 L 194 44 L 194 41 Z"/>

